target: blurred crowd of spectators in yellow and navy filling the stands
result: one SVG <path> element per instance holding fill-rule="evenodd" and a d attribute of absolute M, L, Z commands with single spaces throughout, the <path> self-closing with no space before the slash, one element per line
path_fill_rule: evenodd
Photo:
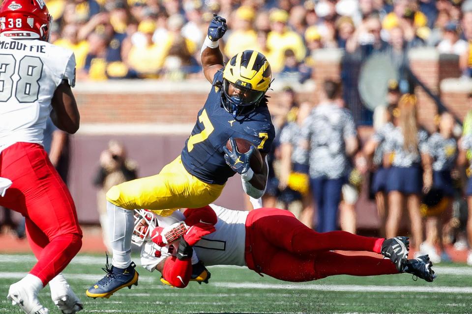
<path fill-rule="evenodd" d="M 472 0 L 47 0 L 51 42 L 72 49 L 78 79 L 201 77 L 212 13 L 227 19 L 226 57 L 264 53 L 279 76 L 300 82 L 314 54 L 437 47 L 460 55 L 471 76 Z"/>

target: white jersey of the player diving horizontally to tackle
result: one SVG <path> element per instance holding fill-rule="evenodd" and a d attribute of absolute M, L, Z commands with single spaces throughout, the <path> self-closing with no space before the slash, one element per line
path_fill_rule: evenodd
<path fill-rule="evenodd" d="M 211 265 L 237 265 L 246 266 L 244 250 L 246 244 L 246 218 L 249 211 L 226 209 L 210 204 L 215 211 L 218 221 L 216 231 L 205 235 L 193 246 L 194 254 L 198 260 Z M 185 219 L 183 214 L 175 211 L 170 216 L 157 216 L 158 225 L 167 227 L 175 222 Z M 146 241 L 141 248 L 141 264 L 146 269 L 153 271 L 155 266 L 165 258 L 177 254 L 176 247 L 161 248 L 152 241 Z M 192 264 L 195 263 L 192 257 Z M 198 261 L 197 260 L 197 261 Z"/>

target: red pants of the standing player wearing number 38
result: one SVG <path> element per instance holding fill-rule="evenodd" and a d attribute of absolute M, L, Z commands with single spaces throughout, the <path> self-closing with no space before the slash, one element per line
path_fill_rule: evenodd
<path fill-rule="evenodd" d="M 20 142 L 3 150 L 0 177 L 13 182 L 0 197 L 0 206 L 25 216 L 29 244 L 38 260 L 30 274 L 45 286 L 82 246 L 74 201 L 39 144 Z"/>

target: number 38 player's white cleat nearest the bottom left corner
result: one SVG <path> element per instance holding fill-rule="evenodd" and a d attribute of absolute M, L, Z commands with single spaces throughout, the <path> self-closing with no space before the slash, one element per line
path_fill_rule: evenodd
<path fill-rule="evenodd" d="M 37 292 L 20 282 L 10 286 L 6 298 L 11 301 L 11 305 L 18 305 L 26 314 L 49 314 L 49 310 L 39 303 Z"/>

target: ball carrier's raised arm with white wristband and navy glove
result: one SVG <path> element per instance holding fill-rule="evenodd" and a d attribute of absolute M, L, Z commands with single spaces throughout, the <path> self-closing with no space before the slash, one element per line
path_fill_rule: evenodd
<path fill-rule="evenodd" d="M 227 29 L 226 20 L 213 14 L 201 52 L 203 74 L 210 83 L 213 82 L 216 72 L 223 67 L 223 53 L 220 51 L 218 40 Z"/>

